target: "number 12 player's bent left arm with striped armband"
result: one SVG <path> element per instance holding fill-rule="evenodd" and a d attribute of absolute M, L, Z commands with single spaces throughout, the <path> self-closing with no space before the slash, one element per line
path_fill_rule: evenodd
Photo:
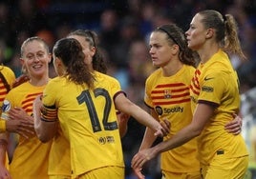
<path fill-rule="evenodd" d="M 33 102 L 34 130 L 43 143 L 49 142 L 57 131 L 56 109 L 47 109 L 43 106 L 41 96 L 37 96 Z"/>

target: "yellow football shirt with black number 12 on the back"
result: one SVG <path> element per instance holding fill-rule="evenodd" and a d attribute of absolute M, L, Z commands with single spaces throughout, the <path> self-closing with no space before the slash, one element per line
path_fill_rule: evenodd
<path fill-rule="evenodd" d="M 120 86 L 116 79 L 99 72 L 95 78 L 95 89 L 56 77 L 44 91 L 43 104 L 57 109 L 63 137 L 70 143 L 75 176 L 107 166 L 124 167 L 114 105 Z"/>

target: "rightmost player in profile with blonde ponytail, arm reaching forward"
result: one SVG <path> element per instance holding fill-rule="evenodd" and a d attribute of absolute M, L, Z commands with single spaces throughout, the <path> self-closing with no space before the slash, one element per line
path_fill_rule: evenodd
<path fill-rule="evenodd" d="M 194 16 L 186 35 L 188 47 L 201 58 L 190 86 L 192 122 L 156 147 L 140 150 L 132 166 L 139 171 L 158 153 L 175 152 L 197 137 L 203 178 L 244 178 L 248 160 L 245 141 L 241 134 L 233 135 L 224 129 L 240 106 L 238 78 L 226 53 L 236 52 L 244 57 L 234 19 L 205 10 Z M 179 41 L 176 44 L 179 46 Z M 139 178 L 143 178 L 141 173 Z"/>

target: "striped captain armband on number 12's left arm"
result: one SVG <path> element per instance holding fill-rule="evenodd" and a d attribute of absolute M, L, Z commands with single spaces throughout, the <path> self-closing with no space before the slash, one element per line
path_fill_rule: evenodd
<path fill-rule="evenodd" d="M 41 107 L 41 121 L 44 122 L 56 122 L 57 121 L 57 109 Z"/>

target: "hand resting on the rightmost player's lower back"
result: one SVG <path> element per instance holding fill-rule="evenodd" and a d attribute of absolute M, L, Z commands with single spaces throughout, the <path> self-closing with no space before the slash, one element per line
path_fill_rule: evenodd
<path fill-rule="evenodd" d="M 234 135 L 237 135 L 242 131 L 243 121 L 242 121 L 242 118 L 237 114 L 233 114 L 233 117 L 234 119 L 229 123 L 227 123 L 224 126 L 224 129 L 226 129 L 229 133 L 233 133 Z"/>

